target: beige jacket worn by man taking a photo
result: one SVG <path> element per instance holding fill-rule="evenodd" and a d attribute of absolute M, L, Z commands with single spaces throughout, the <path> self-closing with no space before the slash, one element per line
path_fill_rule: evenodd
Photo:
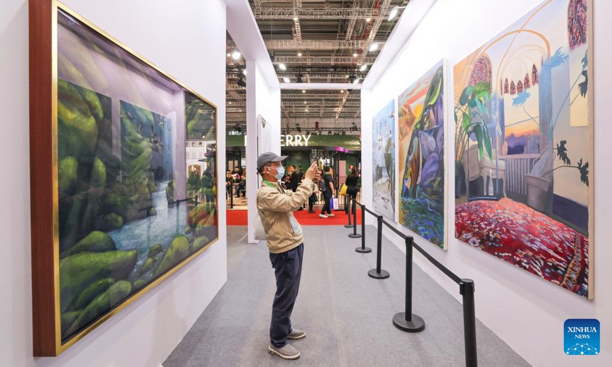
<path fill-rule="evenodd" d="M 315 190 L 315 183 L 304 179 L 296 192 L 283 190 L 278 182 L 274 188 L 265 182 L 257 191 L 257 210 L 266 231 L 268 249 L 273 254 L 296 248 L 304 241 L 302 226 L 297 223 L 293 212 L 300 209 Z"/>

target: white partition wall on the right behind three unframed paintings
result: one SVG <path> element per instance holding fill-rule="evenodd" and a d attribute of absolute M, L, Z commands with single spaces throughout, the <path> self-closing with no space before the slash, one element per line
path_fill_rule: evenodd
<path fill-rule="evenodd" d="M 395 56 L 394 62 L 380 78 L 368 84 L 370 89 L 362 90 L 363 177 L 371 177 L 373 173 L 371 118 L 379 109 L 392 98 L 397 98 L 441 59 L 446 59 L 449 66 L 446 108 L 450 125 L 447 136 L 452 139 L 453 65 L 540 3 L 541 0 L 437 0 Z M 608 117 L 612 114 L 609 102 L 612 73 L 608 66 L 612 60 L 612 48 L 608 39 L 612 34 L 612 24 L 606 19 L 612 13 L 612 2 L 594 0 L 593 9 L 594 34 L 589 34 L 589 37 L 594 39 L 594 60 L 589 61 L 589 67 L 594 67 L 595 105 L 596 163 L 593 166 L 595 182 L 592 183 L 595 188 L 594 300 L 578 297 L 455 239 L 455 204 L 452 196 L 447 206 L 448 251 L 415 235 L 416 242 L 450 270 L 459 276 L 474 279 L 477 318 L 534 366 L 570 366 L 576 363 L 582 366 L 609 366 L 612 363 L 612 268 L 608 264 L 612 259 L 612 247 L 608 240 L 612 237 L 612 228 L 608 224 L 612 218 L 612 194 L 608 190 L 612 182 L 612 164 L 608 154 L 612 137 L 612 125 L 608 123 Z M 447 177 L 452 178 L 452 144 L 450 152 Z M 364 202 L 371 205 L 371 182 L 366 179 L 363 185 Z M 450 182 L 448 192 L 454 192 L 453 182 Z M 371 218 L 370 223 L 373 223 Z M 397 227 L 401 228 L 399 224 Z M 406 229 L 402 228 L 402 231 L 411 234 Z M 386 228 L 384 234 L 404 250 L 404 244 L 397 235 Z M 455 283 L 416 251 L 414 256 L 417 265 L 460 300 Z M 413 305 L 414 313 L 419 314 L 419 307 L 418 303 Z M 600 355 L 576 358 L 564 354 L 563 324 L 571 318 L 599 319 L 602 327 Z M 457 314 L 457 319 L 460 322 L 461 314 Z M 430 332 L 444 333 L 444 330 Z"/>

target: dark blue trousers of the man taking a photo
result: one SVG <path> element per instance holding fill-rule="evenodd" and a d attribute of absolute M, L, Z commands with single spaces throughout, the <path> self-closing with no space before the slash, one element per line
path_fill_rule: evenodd
<path fill-rule="evenodd" d="M 276 276 L 276 294 L 272 303 L 272 322 L 270 323 L 270 343 L 282 348 L 287 344 L 291 328 L 291 312 L 296 303 L 297 291 L 302 276 L 304 243 L 280 254 L 270 254 L 270 262 Z"/>

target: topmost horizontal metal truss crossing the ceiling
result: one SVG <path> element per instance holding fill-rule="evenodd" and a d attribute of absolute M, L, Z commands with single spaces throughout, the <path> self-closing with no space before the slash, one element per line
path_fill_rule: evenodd
<path fill-rule="evenodd" d="M 293 8 L 261 8 L 253 10 L 256 19 L 293 19 Z M 297 10 L 300 19 L 367 19 L 375 18 L 377 10 L 360 8 L 302 8 Z"/>

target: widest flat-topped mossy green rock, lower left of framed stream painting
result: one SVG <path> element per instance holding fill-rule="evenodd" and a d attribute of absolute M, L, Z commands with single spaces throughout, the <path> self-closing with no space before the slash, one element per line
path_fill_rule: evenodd
<path fill-rule="evenodd" d="M 136 250 L 78 253 L 59 261 L 61 310 L 83 289 L 103 278 L 125 279 L 136 265 Z"/>

